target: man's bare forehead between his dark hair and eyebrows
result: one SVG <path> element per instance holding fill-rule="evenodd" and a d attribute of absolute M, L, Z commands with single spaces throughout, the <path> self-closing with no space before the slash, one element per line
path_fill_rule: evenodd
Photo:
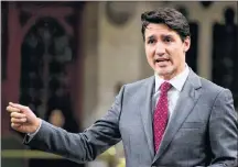
<path fill-rule="evenodd" d="M 152 36 L 152 35 L 172 35 L 172 36 L 178 36 L 178 34 L 170 29 L 165 24 L 154 24 L 150 23 L 145 31 L 144 31 L 145 37 Z"/>

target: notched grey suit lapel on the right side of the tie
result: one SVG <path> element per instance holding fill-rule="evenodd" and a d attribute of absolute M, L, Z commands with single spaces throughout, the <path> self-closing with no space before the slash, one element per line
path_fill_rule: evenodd
<path fill-rule="evenodd" d="M 181 91 L 176 107 L 173 111 L 172 118 L 165 130 L 161 146 L 154 156 L 153 163 L 161 157 L 169 144 L 172 142 L 176 132 L 180 130 L 182 123 L 193 110 L 196 101 L 199 98 L 199 91 L 197 89 L 201 87 L 202 85 L 198 76 L 196 76 L 191 69 L 188 78 Z"/>

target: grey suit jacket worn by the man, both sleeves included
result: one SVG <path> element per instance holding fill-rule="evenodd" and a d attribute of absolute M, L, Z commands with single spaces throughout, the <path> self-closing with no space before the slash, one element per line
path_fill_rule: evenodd
<path fill-rule="evenodd" d="M 71 160 L 93 160 L 122 140 L 127 167 L 236 166 L 238 121 L 231 92 L 192 70 L 158 153 L 153 148 L 154 76 L 125 85 L 106 115 L 74 134 L 43 121 L 24 143 Z"/>

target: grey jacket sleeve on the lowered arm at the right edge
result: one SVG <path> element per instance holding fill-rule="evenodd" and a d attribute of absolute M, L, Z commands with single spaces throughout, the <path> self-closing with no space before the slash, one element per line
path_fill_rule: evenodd
<path fill-rule="evenodd" d="M 238 158 L 238 120 L 232 94 L 224 89 L 217 96 L 209 118 L 210 167 L 235 167 Z"/>

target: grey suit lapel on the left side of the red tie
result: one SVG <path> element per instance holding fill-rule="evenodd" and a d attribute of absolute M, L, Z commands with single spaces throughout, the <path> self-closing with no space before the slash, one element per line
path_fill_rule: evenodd
<path fill-rule="evenodd" d="M 141 93 L 145 93 L 145 96 L 141 96 L 141 101 L 139 103 L 141 119 L 144 127 L 144 133 L 147 136 L 148 146 L 151 153 L 151 157 L 154 157 L 154 148 L 153 148 L 153 133 L 152 133 L 152 94 L 154 88 L 154 77 L 150 77 L 148 84 L 143 89 L 141 89 Z"/>

